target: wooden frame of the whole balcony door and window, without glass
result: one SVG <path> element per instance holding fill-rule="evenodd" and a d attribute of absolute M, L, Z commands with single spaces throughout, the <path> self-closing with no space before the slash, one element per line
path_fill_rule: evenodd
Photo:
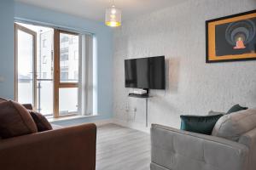
<path fill-rule="evenodd" d="M 19 22 L 19 23 L 24 23 L 24 24 L 29 24 L 29 25 L 35 25 L 35 26 L 46 26 L 46 25 L 41 25 L 41 24 L 37 24 L 37 23 L 30 23 L 30 22 L 24 22 L 24 21 L 20 21 L 20 20 L 15 20 L 15 24 L 14 24 L 14 27 L 15 27 L 15 100 L 17 101 L 18 100 L 18 79 L 17 79 L 17 75 L 18 75 L 18 72 L 17 72 L 17 65 L 18 65 L 18 54 L 17 54 L 17 51 L 18 51 L 18 47 L 17 47 L 17 31 L 18 30 L 21 30 L 21 31 L 30 31 L 30 29 L 24 27 L 24 26 L 20 26 L 19 23 L 16 23 Z M 54 61 L 54 71 L 53 71 L 53 111 L 52 111 L 52 115 L 50 116 L 53 116 L 53 118 L 60 118 L 60 117 L 67 117 L 67 116 L 78 116 L 78 115 L 82 115 L 82 113 L 80 113 L 81 111 L 81 108 L 83 107 L 82 104 L 80 103 L 81 99 L 78 99 L 78 111 L 75 111 L 75 112 L 69 112 L 69 114 L 67 115 L 61 115 L 61 112 L 60 112 L 60 108 L 59 108 L 59 89 L 60 88 L 78 88 L 78 93 L 80 92 L 80 81 L 82 81 L 80 79 L 80 74 L 82 74 L 80 71 L 81 71 L 81 63 L 82 62 L 82 59 L 81 59 L 81 41 L 80 41 L 80 36 L 83 35 L 83 34 L 87 34 L 87 33 L 78 33 L 79 31 L 65 31 L 65 30 L 62 30 L 62 29 L 59 29 L 59 27 L 55 27 L 55 26 L 47 26 L 47 27 L 50 27 L 54 30 L 54 35 L 53 35 L 53 61 Z M 33 34 L 33 41 L 34 41 L 34 55 L 36 56 L 33 60 L 33 72 L 34 72 L 34 84 L 33 84 L 33 93 L 34 93 L 34 97 L 33 97 L 33 109 L 37 109 L 37 104 L 38 104 L 38 99 L 37 99 L 37 33 L 34 32 L 34 31 L 31 31 L 30 32 L 31 34 Z M 79 36 L 79 51 L 78 51 L 78 59 L 79 59 L 79 81 L 78 82 L 61 82 L 61 77 L 60 77 L 60 73 L 61 73 L 61 62 L 60 62 L 60 59 L 61 59 L 61 50 L 60 50 L 60 46 L 61 46 L 61 39 L 60 39 L 60 35 L 61 33 L 64 33 L 64 34 L 71 34 L 71 35 L 76 35 L 76 36 Z M 89 33 L 88 33 L 89 34 Z M 44 47 L 40 47 L 40 48 L 44 48 Z M 74 56 L 75 57 L 75 56 Z M 78 94 L 78 98 L 79 98 L 79 94 Z"/>

